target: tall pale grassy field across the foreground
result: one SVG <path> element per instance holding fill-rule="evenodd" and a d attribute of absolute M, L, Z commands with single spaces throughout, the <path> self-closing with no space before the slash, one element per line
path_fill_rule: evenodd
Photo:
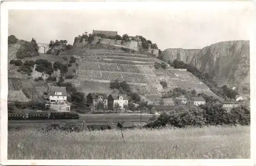
<path fill-rule="evenodd" d="M 250 158 L 250 127 L 9 131 L 8 159 Z"/>

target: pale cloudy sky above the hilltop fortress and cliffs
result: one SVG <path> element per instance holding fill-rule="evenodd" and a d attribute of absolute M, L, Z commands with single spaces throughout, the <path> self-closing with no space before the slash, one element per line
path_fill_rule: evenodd
<path fill-rule="evenodd" d="M 250 39 L 252 4 L 234 3 L 170 3 L 118 10 L 9 10 L 8 35 L 27 41 L 34 38 L 37 43 L 57 39 L 73 44 L 84 32 L 117 31 L 120 36 L 141 35 L 161 50 L 200 49 L 221 41 Z"/>

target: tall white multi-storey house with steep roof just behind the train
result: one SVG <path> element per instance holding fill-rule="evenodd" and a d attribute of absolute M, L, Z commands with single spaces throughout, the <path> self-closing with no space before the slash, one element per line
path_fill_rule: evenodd
<path fill-rule="evenodd" d="M 64 111 L 70 110 L 70 105 L 67 104 L 66 87 L 48 87 L 48 99 L 51 109 Z"/>

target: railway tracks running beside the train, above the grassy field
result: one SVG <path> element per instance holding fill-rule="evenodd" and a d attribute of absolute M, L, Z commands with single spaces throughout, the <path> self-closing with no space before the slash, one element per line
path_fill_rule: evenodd
<path fill-rule="evenodd" d="M 106 124 L 116 122 L 136 122 L 145 123 L 153 115 L 90 115 L 80 116 L 77 120 L 8 120 L 8 126 L 22 126 L 22 127 L 41 127 L 49 125 L 53 122 L 67 123 L 77 122 L 82 123 L 86 121 L 86 124 Z"/>

